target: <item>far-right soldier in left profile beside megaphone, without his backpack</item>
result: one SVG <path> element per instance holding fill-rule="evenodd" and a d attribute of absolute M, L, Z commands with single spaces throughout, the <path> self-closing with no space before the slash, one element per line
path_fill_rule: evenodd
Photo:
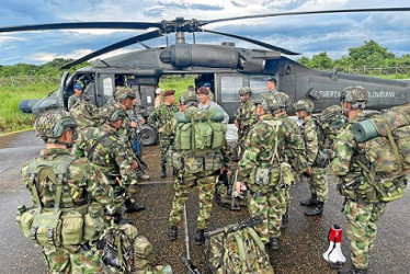
<path fill-rule="evenodd" d="M 367 198 L 369 192 L 376 190 L 374 182 L 369 182 L 364 173 L 364 168 L 369 167 L 358 163 L 364 157 L 352 132 L 353 123 L 365 118 L 363 110 L 368 102 L 367 90 L 363 87 L 349 87 L 342 93 L 341 102 L 348 123 L 334 140 L 334 158 L 330 163 L 330 171 L 339 178 L 338 190 L 345 197 L 344 213 L 353 267 L 340 273 L 367 273 L 368 253 L 376 239 L 377 221 L 386 206 L 381 201 L 376 202 L 378 195 L 374 195 L 376 198 L 373 201 Z"/>

